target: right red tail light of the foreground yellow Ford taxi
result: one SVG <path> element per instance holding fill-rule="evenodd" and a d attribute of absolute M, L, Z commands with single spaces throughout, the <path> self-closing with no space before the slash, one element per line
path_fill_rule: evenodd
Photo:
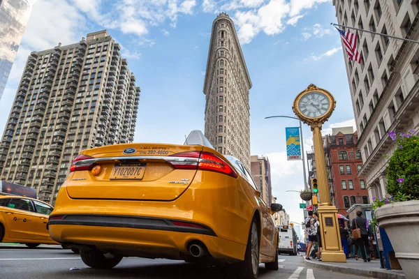
<path fill-rule="evenodd" d="M 207 170 L 210 172 L 220 172 L 221 174 L 227 174 L 229 176 L 237 178 L 237 173 L 234 171 L 228 163 L 223 159 L 219 158 L 210 152 L 200 151 L 187 151 L 182 153 L 173 154 L 175 157 L 188 157 L 188 158 L 199 158 L 198 162 L 170 162 L 170 164 L 176 169 L 198 169 Z"/>

